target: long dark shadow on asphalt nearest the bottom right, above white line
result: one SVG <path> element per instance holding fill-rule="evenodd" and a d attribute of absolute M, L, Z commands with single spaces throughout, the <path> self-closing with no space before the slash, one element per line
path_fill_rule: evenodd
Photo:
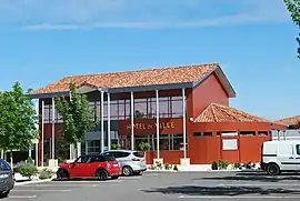
<path fill-rule="evenodd" d="M 257 187 L 168 187 L 143 190 L 146 193 L 183 194 L 183 195 L 246 195 L 246 194 L 300 194 L 300 190 L 261 189 Z"/>

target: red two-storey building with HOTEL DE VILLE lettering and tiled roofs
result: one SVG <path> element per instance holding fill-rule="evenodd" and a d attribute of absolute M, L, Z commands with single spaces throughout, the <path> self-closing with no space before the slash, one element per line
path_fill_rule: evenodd
<path fill-rule="evenodd" d="M 230 108 L 229 99 L 236 92 L 218 63 L 74 76 L 31 94 L 39 99 L 43 117 L 41 161 L 58 158 L 57 139 L 63 132 L 63 122 L 52 110 L 53 98 L 68 97 L 70 82 L 87 94 L 101 119 L 86 135 L 86 153 L 101 152 L 113 143 L 138 149 L 140 142 L 149 142 L 148 163 L 256 162 L 261 143 L 271 139 L 271 130 L 282 128 Z"/>

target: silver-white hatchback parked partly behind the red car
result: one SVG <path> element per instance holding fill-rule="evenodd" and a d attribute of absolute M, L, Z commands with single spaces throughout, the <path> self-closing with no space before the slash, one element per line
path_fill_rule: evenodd
<path fill-rule="evenodd" d="M 138 151 L 112 150 L 103 152 L 106 155 L 112 155 L 122 168 L 123 175 L 141 174 L 147 170 L 144 155 Z"/>

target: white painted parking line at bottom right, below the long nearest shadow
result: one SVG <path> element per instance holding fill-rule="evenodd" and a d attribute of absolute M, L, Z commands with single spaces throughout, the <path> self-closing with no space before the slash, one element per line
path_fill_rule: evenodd
<path fill-rule="evenodd" d="M 300 199 L 300 197 L 276 197 L 276 195 L 273 195 L 273 197 L 271 197 L 271 195 L 267 195 L 267 197 L 264 197 L 264 195 L 257 195 L 257 197 L 254 197 L 254 195 L 252 195 L 252 197 L 240 197 L 240 195 L 238 195 L 238 197 L 229 197 L 229 195 L 227 195 L 227 197 L 219 197 L 219 195 L 216 195 L 216 197 L 213 197 L 213 195 L 211 195 L 211 197 L 201 197 L 201 195 L 180 195 L 180 197 L 178 197 L 178 199 L 297 199 L 297 200 L 299 200 Z"/>

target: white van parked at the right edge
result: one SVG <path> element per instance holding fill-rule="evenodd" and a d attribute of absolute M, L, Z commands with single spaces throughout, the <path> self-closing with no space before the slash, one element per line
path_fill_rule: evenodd
<path fill-rule="evenodd" d="M 260 167 L 270 175 L 278 175 L 282 171 L 300 171 L 300 141 L 263 142 Z"/>

